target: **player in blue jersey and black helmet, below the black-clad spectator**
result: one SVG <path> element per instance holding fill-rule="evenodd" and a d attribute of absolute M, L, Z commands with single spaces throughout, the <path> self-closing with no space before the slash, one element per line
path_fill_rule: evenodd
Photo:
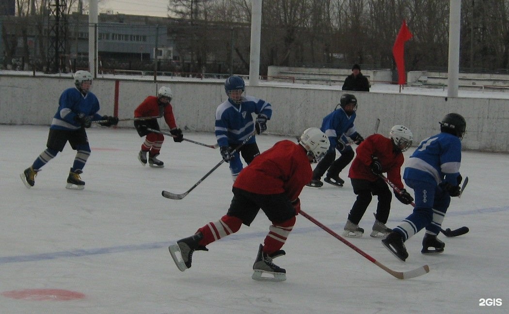
<path fill-rule="evenodd" d="M 320 179 L 327 171 L 324 179 L 325 182 L 335 186 L 343 186 L 345 181 L 340 178 L 340 172 L 352 161 L 355 155 L 353 149 L 348 145 L 350 137 L 356 145 L 359 145 L 364 138 L 355 129 L 354 121 L 357 116 L 357 98 L 352 94 L 343 94 L 340 98 L 341 106 L 337 108 L 325 118 L 323 118 L 321 130 L 330 141 L 330 148 L 325 158 L 319 162 L 313 170 L 313 179 L 307 186 L 320 188 L 323 186 Z M 336 158 L 336 149 L 340 152 L 340 158 Z"/>

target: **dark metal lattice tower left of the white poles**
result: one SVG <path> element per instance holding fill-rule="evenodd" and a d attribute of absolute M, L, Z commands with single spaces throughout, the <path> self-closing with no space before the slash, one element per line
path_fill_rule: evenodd
<path fill-rule="evenodd" d="M 65 71 L 67 42 L 67 0 L 49 0 L 48 2 L 48 54 L 46 72 Z"/>

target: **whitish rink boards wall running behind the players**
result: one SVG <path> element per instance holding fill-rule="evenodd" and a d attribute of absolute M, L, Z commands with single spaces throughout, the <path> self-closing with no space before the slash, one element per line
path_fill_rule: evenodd
<path fill-rule="evenodd" d="M 155 95 L 158 87 L 169 85 L 174 94 L 177 124 L 184 130 L 214 130 L 217 105 L 226 99 L 223 83 L 206 81 L 172 81 L 154 83 L 120 81 L 119 118 L 133 117 L 134 108 L 148 95 Z M 73 86 L 70 78 L 21 77 L 0 75 L 0 124 L 49 125 L 62 91 Z M 98 96 L 103 115 L 114 111 L 115 81 L 94 80 L 93 92 Z M 268 133 L 298 135 L 304 129 L 320 127 L 325 115 L 331 112 L 341 91 L 312 89 L 304 86 L 246 87 L 248 95 L 268 100 L 273 107 Z M 467 120 L 465 149 L 509 152 L 509 100 L 487 98 L 454 98 L 439 96 L 383 94 L 357 92 L 356 127 L 367 136 L 374 132 L 380 118 L 379 133 L 387 134 L 395 124 L 408 126 L 414 134 L 414 144 L 439 132 L 438 122 L 448 112 L 459 112 Z M 132 127 L 122 122 L 122 127 Z M 164 122 L 161 123 L 165 128 Z"/>

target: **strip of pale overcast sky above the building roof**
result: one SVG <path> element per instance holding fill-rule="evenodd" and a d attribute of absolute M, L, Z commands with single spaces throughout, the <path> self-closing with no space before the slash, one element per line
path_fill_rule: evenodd
<path fill-rule="evenodd" d="M 167 16 L 168 0 L 100 0 L 99 12 L 111 10 L 114 14 Z"/>

